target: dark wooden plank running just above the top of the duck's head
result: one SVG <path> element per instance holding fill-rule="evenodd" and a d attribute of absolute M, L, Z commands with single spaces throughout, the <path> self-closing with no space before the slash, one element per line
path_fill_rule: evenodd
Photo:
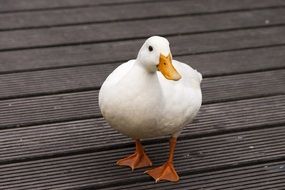
<path fill-rule="evenodd" d="M 283 9 L 54 27 L 0 33 L 0 50 L 261 27 L 285 23 Z M 269 20 L 270 22 L 265 22 Z M 227 23 L 227 24 L 225 24 Z M 147 27 L 146 27 L 147 26 Z M 157 27 L 159 26 L 159 27 Z M 127 30 L 126 30 L 127 29 Z"/>

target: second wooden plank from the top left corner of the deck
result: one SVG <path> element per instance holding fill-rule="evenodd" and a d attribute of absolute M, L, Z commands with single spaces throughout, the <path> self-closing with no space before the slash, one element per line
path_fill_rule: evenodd
<path fill-rule="evenodd" d="M 77 1 L 78 2 L 78 1 Z M 96 1 L 93 1 L 96 2 Z M 79 3 L 79 2 L 78 2 Z M 80 1 L 80 3 L 82 3 Z M 284 1 L 192 0 L 0 14 L 0 30 L 110 22 L 243 9 L 282 7 Z"/>

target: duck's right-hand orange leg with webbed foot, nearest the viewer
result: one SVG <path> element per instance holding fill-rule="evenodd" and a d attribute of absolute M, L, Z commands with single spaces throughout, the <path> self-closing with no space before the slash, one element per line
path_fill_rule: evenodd
<path fill-rule="evenodd" d="M 169 150 L 169 158 L 165 164 L 159 166 L 157 168 L 146 171 L 148 175 L 155 179 L 155 182 L 159 182 L 160 180 L 167 181 L 178 181 L 179 176 L 177 175 L 174 166 L 173 166 L 173 156 L 174 149 L 176 146 L 176 138 L 172 137 L 170 139 L 170 150 Z"/>

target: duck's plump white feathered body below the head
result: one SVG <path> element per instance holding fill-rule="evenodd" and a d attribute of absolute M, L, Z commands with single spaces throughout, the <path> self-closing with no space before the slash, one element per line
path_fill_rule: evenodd
<path fill-rule="evenodd" d="M 159 45 L 155 48 L 158 51 Z M 101 112 L 110 126 L 134 139 L 177 137 L 200 109 L 202 75 L 173 60 L 182 78 L 171 81 L 141 62 L 130 60 L 108 76 L 99 93 Z"/>

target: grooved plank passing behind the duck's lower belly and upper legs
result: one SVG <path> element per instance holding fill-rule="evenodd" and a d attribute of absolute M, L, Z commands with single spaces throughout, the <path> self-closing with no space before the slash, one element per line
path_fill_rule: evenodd
<path fill-rule="evenodd" d="M 284 128 L 285 120 L 281 117 L 285 111 L 284 97 L 204 105 L 196 120 L 185 127 L 179 139 L 214 138 L 216 135 Z M 68 128 L 70 130 L 64 132 Z M 270 134 L 270 131 L 266 133 L 267 136 Z M 11 128 L 2 130 L 1 136 L 2 164 L 133 146 L 131 139 L 110 128 L 103 118 Z M 104 145 L 100 143 L 102 141 Z M 143 144 L 162 142 L 166 143 L 167 138 L 149 139 Z M 21 147 L 20 152 L 18 147 Z"/>

